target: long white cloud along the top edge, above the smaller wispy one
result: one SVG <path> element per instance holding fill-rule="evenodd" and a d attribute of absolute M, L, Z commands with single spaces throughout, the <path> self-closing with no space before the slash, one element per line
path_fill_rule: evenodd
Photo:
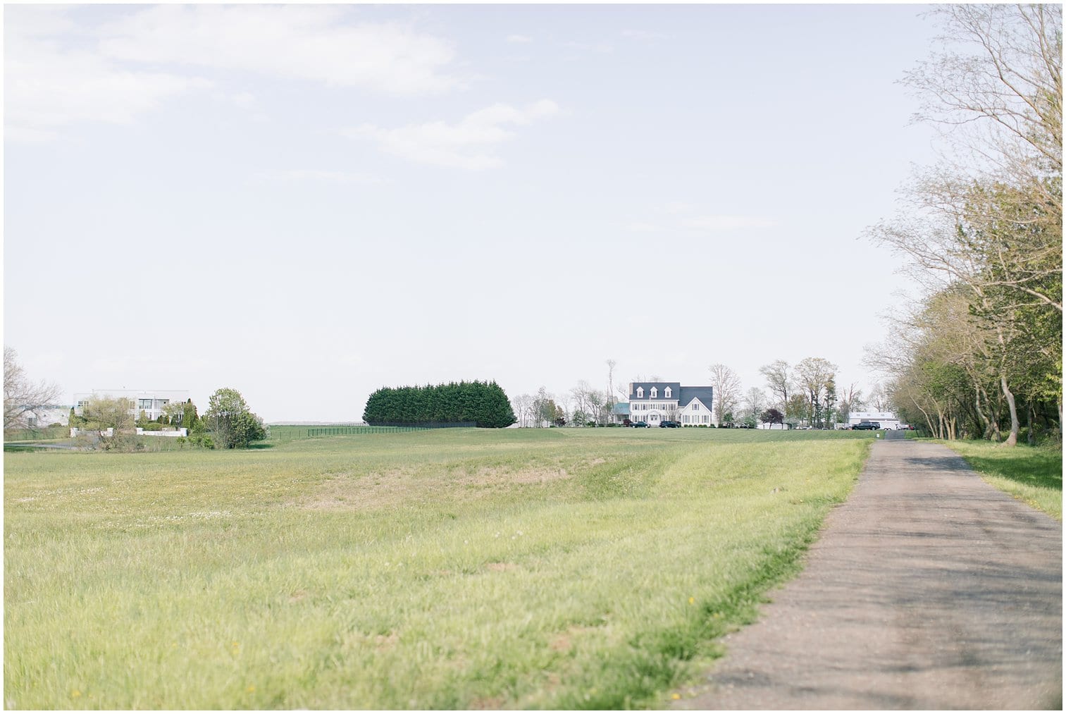
<path fill-rule="evenodd" d="M 157 5 L 103 28 L 120 61 L 238 69 L 398 95 L 462 84 L 451 43 L 395 23 L 346 23 L 337 5 Z"/>

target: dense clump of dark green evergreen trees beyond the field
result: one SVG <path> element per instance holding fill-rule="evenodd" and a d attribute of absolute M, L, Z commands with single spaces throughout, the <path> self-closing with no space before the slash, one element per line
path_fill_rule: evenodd
<path fill-rule="evenodd" d="M 495 382 L 382 387 L 367 400 L 362 420 L 373 426 L 474 422 L 482 428 L 503 428 L 517 421 L 507 395 Z"/>

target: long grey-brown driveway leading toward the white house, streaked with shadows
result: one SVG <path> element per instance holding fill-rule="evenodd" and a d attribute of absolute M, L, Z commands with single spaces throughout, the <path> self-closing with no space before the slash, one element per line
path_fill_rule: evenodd
<path fill-rule="evenodd" d="M 946 447 L 874 444 L 808 566 L 675 709 L 1062 709 L 1062 524 Z"/>

